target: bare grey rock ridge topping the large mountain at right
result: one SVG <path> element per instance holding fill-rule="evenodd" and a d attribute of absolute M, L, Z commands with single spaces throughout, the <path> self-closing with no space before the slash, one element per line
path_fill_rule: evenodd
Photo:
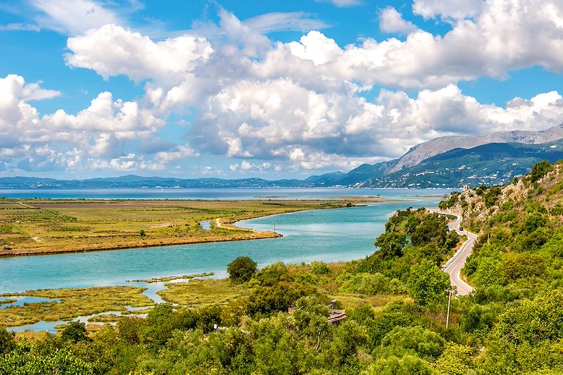
<path fill-rule="evenodd" d="M 473 148 L 492 143 L 547 144 L 559 139 L 563 139 L 563 123 L 539 131 L 514 130 L 477 136 L 442 136 L 411 148 L 397 160 L 396 165 L 388 170 L 388 173 L 418 165 L 423 160 L 454 148 Z"/>

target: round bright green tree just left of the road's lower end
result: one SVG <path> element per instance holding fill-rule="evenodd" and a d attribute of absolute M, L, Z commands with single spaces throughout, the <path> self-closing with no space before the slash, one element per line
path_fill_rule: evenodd
<path fill-rule="evenodd" d="M 435 262 L 424 260 L 410 267 L 407 288 L 419 305 L 427 305 L 445 298 L 445 291 L 450 288 L 450 278 L 436 267 Z"/>

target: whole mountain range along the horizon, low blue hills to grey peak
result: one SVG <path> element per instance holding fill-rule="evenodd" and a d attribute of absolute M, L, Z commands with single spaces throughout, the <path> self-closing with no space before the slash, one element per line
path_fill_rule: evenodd
<path fill-rule="evenodd" d="M 0 189 L 101 188 L 249 188 L 374 187 L 456 188 L 497 185 L 526 174 L 540 160 L 563 159 L 563 124 L 541 131 L 443 136 L 412 147 L 398 159 L 363 164 L 348 173 L 331 172 L 307 179 L 178 179 L 129 174 L 82 180 L 1 177 Z"/>

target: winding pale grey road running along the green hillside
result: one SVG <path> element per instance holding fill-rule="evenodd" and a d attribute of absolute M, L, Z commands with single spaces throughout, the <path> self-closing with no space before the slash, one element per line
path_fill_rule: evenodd
<path fill-rule="evenodd" d="M 430 211 L 436 212 L 440 215 L 455 216 L 455 220 L 448 223 L 448 228 L 450 230 L 457 231 L 458 234 L 464 234 L 467 236 L 467 241 L 462 244 L 462 247 L 457 250 L 453 257 L 448 260 L 448 262 L 445 262 L 442 270 L 443 272 L 446 272 L 450 275 L 450 283 L 452 284 L 452 286 L 455 286 L 458 295 L 471 294 L 473 287 L 462 280 L 462 278 L 460 277 L 460 272 L 465 265 L 465 260 L 467 260 L 467 257 L 471 255 L 475 240 L 478 238 L 478 236 L 467 230 L 460 231 L 460 224 L 462 222 L 461 215 L 434 209 L 431 209 Z"/>

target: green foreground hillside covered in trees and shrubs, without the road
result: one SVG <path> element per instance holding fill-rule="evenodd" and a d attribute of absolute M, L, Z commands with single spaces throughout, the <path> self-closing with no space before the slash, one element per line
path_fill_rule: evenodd
<path fill-rule="evenodd" d="M 0 330 L 0 374 L 561 374 L 563 164 L 453 193 L 441 208 L 480 234 L 464 268 L 476 290 L 451 301 L 448 329 L 439 267 L 463 239 L 443 216 L 409 209 L 363 260 L 257 270 L 238 258 L 229 280 L 198 281 L 236 298 L 188 308 L 177 294 L 179 305 L 97 333 L 73 323 L 16 341 Z M 331 300 L 346 310 L 340 324 L 327 319 Z"/>

